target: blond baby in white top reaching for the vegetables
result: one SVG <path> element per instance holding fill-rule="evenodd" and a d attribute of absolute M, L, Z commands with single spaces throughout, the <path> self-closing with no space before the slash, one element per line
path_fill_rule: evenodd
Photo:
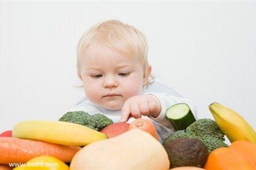
<path fill-rule="evenodd" d="M 177 92 L 153 82 L 151 70 L 142 32 L 118 20 L 94 25 L 77 46 L 77 74 L 86 97 L 72 111 L 101 113 L 114 122 L 146 116 L 163 140 L 174 132 L 166 110 L 186 103 L 195 114 L 194 106 Z"/>

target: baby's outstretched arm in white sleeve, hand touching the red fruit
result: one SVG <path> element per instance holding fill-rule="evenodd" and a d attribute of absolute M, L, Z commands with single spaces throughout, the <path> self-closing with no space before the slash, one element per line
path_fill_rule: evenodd
<path fill-rule="evenodd" d="M 143 115 L 150 117 L 152 120 L 168 128 L 173 128 L 171 122 L 166 118 L 165 113 L 168 108 L 178 103 L 188 104 L 192 113 L 195 115 L 196 107 L 191 101 L 184 99 L 171 88 L 154 82 L 142 92 L 142 95 L 131 97 L 125 102 L 122 108 L 121 121 L 127 121 L 130 117 L 138 118 Z"/>

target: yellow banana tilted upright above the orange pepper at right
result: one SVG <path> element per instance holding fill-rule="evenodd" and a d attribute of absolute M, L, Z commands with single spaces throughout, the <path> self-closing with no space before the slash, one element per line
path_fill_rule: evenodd
<path fill-rule="evenodd" d="M 225 133 L 230 142 L 246 140 L 256 143 L 256 133 L 240 114 L 219 103 L 209 105 L 216 124 Z"/>

